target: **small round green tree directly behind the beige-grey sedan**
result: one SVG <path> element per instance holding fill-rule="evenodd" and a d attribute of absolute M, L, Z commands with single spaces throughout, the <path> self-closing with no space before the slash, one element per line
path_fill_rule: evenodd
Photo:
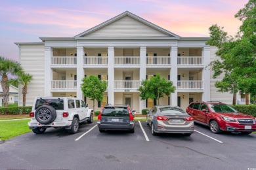
<path fill-rule="evenodd" d="M 150 80 L 142 80 L 141 86 L 138 91 L 140 92 L 139 96 L 142 100 L 145 99 L 156 99 L 157 105 L 160 105 L 159 99 L 163 95 L 170 95 L 175 92 L 176 88 L 173 86 L 173 82 L 161 78 L 160 74 L 150 78 Z"/>

